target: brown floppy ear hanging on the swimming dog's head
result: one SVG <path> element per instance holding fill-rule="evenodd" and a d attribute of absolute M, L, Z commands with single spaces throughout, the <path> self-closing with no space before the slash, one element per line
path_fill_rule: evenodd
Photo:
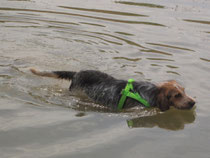
<path fill-rule="evenodd" d="M 169 109 L 170 105 L 169 105 L 169 97 L 166 95 L 166 90 L 165 89 L 160 89 L 159 94 L 157 95 L 157 107 L 161 110 L 161 111 L 166 111 Z"/>

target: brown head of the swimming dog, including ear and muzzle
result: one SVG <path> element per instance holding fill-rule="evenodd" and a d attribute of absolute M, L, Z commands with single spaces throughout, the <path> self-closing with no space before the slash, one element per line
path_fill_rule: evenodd
<path fill-rule="evenodd" d="M 195 104 L 195 100 L 174 80 L 160 83 L 158 88 L 157 106 L 161 111 L 168 110 L 170 106 L 177 109 L 191 109 Z"/>

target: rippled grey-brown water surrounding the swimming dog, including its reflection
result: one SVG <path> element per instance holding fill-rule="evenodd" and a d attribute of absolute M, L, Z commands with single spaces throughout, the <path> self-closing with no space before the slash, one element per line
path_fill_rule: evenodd
<path fill-rule="evenodd" d="M 209 17 L 206 0 L 1 0 L 1 157 L 209 158 Z M 112 113 L 31 67 L 175 79 L 196 108 Z"/>

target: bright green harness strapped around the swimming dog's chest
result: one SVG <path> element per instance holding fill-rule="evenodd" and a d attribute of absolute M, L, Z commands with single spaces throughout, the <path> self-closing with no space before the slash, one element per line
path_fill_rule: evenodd
<path fill-rule="evenodd" d="M 133 82 L 134 82 L 133 79 L 129 79 L 129 80 L 128 80 L 128 83 L 127 83 L 127 85 L 126 85 L 126 87 L 125 87 L 125 89 L 122 90 L 122 92 L 121 92 L 122 96 L 121 96 L 121 98 L 120 98 L 120 101 L 119 101 L 119 104 L 118 104 L 118 107 L 117 107 L 118 110 L 121 110 L 121 109 L 123 108 L 123 105 L 124 105 L 125 100 L 126 100 L 127 97 L 139 101 L 140 103 L 142 103 L 142 104 L 143 104 L 144 106 L 146 106 L 146 107 L 150 107 L 148 101 L 146 101 L 145 99 L 143 99 L 143 98 L 139 95 L 139 93 L 137 93 L 137 92 L 131 92 L 131 91 L 130 91 L 130 90 L 133 91 L 133 85 L 132 85 Z"/>

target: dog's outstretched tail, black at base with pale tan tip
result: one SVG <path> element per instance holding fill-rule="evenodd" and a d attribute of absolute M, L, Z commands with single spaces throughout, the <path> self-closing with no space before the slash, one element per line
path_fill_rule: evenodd
<path fill-rule="evenodd" d="M 31 68 L 30 71 L 38 76 L 53 77 L 66 80 L 71 80 L 76 74 L 74 71 L 38 71 L 33 68 Z"/>

